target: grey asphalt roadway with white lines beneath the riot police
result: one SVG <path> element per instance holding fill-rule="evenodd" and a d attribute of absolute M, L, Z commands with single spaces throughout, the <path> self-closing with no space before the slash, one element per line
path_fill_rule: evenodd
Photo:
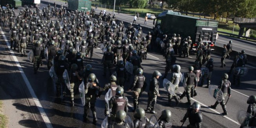
<path fill-rule="evenodd" d="M 42 9 L 45 4 L 41 4 Z M 23 9 L 23 8 L 22 8 Z M 15 10 L 17 13 L 19 10 Z M 117 15 L 118 17 L 118 15 Z M 55 19 L 54 19 L 55 20 Z M 0 99 L 4 101 L 4 112 L 9 119 L 12 120 L 9 126 L 15 125 L 16 127 L 54 127 L 54 128 L 81 128 L 91 127 L 98 128 L 101 125 L 104 116 L 104 95 L 97 99 L 96 111 L 99 121 L 97 125 L 92 124 L 92 115 L 89 115 L 89 123 L 83 122 L 84 108 L 81 103 L 79 95 L 75 96 L 75 106 L 70 107 L 69 94 L 64 98 L 56 97 L 56 87 L 49 76 L 46 62 L 40 67 L 37 74 L 33 74 L 33 63 L 29 62 L 26 57 L 20 57 L 20 54 L 16 51 L 10 51 L 10 38 L 9 28 L 0 28 L 0 90 L 3 93 L 0 95 Z M 3 33 L 2 33 L 3 32 Z M 144 34 L 145 35 L 145 34 Z M 6 40 L 5 40 L 6 39 Z M 28 46 L 27 53 L 31 50 L 32 46 Z M 88 62 L 84 59 L 84 64 L 87 63 L 93 66 L 93 71 L 99 79 L 100 86 L 109 82 L 109 76 L 103 77 L 103 66 L 100 64 L 102 58 L 102 52 L 98 48 L 94 49 L 93 59 Z M 221 62 L 218 55 L 212 54 L 214 59 L 214 71 L 211 79 L 211 84 L 217 85 L 221 80 L 223 73 L 229 71 L 232 64 L 232 60 L 226 59 L 226 67 L 220 68 Z M 188 66 L 194 64 L 195 55 L 190 55 L 190 58 L 177 57 L 177 64 L 181 66 L 181 72 L 187 72 Z M 158 70 L 164 74 L 165 71 L 165 59 L 159 54 L 159 50 L 154 48 L 152 52 L 148 52 L 148 59 L 143 60 L 142 66 L 144 68 L 143 74 L 146 77 L 146 81 L 149 83 L 150 77 L 155 70 Z M 208 89 L 203 87 L 197 87 L 198 96 L 194 97 L 193 101 L 199 101 L 201 103 L 201 112 L 203 114 L 203 128 L 239 128 L 240 126 L 236 122 L 236 114 L 239 110 L 247 110 L 246 100 L 248 96 L 255 95 L 256 76 L 254 75 L 255 67 L 247 66 L 249 69 L 248 74 L 241 79 L 240 87 L 232 86 L 231 98 L 227 104 L 227 116 L 220 115 L 223 110 L 221 105 L 217 106 L 216 110 L 209 109 L 208 106 L 214 104 L 215 100 L 209 95 Z M 167 76 L 170 79 L 170 73 Z M 229 80 L 232 83 L 232 76 Z M 175 106 L 175 101 L 171 106 L 167 105 L 168 97 L 167 92 L 162 88 L 162 79 L 160 77 L 160 97 L 157 98 L 156 111 L 157 117 L 160 117 L 161 111 L 169 109 L 172 112 L 173 127 L 180 127 L 180 120 L 186 113 L 187 102 L 186 98 L 180 100 L 181 103 Z M 131 92 L 127 91 L 131 85 L 131 81 L 125 84 L 125 96 L 129 100 L 129 112 L 128 114 L 133 117 L 133 104 Z M 205 85 L 204 85 L 205 86 Z M 148 90 L 148 87 L 146 91 Z M 179 87 L 178 92 L 183 92 L 184 88 Z M 34 93 L 34 94 L 33 94 Z M 144 92 L 139 100 L 139 107 L 146 109 L 147 105 L 147 93 Z M 226 97 L 227 99 L 227 97 Z M 9 102 L 12 100 L 12 102 Z M 146 117 L 150 117 L 152 114 L 146 113 Z M 14 121 L 15 120 L 15 121 Z M 18 122 L 18 123 L 17 123 Z M 184 126 L 188 124 L 185 122 Z"/>

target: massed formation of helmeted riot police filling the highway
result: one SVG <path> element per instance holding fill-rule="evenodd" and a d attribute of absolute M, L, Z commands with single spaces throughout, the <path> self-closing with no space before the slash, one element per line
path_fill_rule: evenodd
<path fill-rule="evenodd" d="M 132 23 L 127 25 L 126 31 L 124 32 L 124 23 L 119 22 L 116 24 L 115 15 L 111 16 L 111 14 L 101 11 L 99 17 L 97 17 L 95 16 L 94 10 L 91 12 L 66 11 L 63 6 L 61 8 L 54 7 L 51 9 L 51 6 L 48 5 L 42 11 L 39 8 L 35 11 L 26 8 L 24 11 L 21 10 L 18 16 L 15 16 L 15 13 L 9 8 L 1 8 L 0 19 L 1 23 L 5 26 L 8 23 L 10 25 L 10 42 L 11 48 L 14 51 L 17 50 L 21 56 L 27 56 L 27 45 L 33 46 L 33 67 L 35 74 L 39 70 L 40 65 L 42 66 L 42 59 L 47 59 L 48 69 L 54 67 L 58 77 L 58 81 L 56 82 L 58 96 L 66 96 L 67 89 L 62 75 L 65 70 L 68 71 L 71 86 L 71 106 L 74 106 L 74 94 L 78 92 L 80 83 L 85 83 L 83 115 L 85 122 L 88 120 L 87 115 L 89 114 L 89 110 L 93 113 L 93 122 L 97 122 L 96 99 L 100 97 L 103 91 L 111 89 L 113 97 L 109 100 L 109 106 L 106 105 L 104 112 L 106 116 L 110 116 L 109 127 L 129 127 L 124 120 L 128 111 L 128 99 L 123 94 L 125 82 L 133 76 L 132 86 L 129 87 L 129 90 L 133 94 L 133 112 L 136 118 L 134 120 L 134 127 L 144 128 L 149 120 L 145 117 L 145 110 L 139 107 L 139 98 L 147 86 L 141 63 L 142 60 L 147 59 L 147 51 L 150 50 L 149 46 L 151 46 L 151 49 L 153 46 L 158 46 L 157 41 L 155 41 L 157 38 L 163 42 L 161 48 L 163 49 L 163 56 L 166 58 L 166 69 L 163 78 L 166 78 L 168 72 L 171 70 L 171 78 L 169 80 L 175 86 L 176 93 L 181 82 L 182 74 L 180 72 L 181 67 L 176 64 L 176 57 L 174 55 L 181 56 L 184 54 L 184 57 L 188 57 L 191 49 L 190 46 L 193 46 L 193 43 L 190 37 L 182 41 L 179 34 L 177 37 L 176 34 L 173 34 L 171 38 L 168 38 L 167 35 L 163 35 L 161 32 L 151 31 L 143 37 L 142 28 L 140 26 L 134 28 Z M 57 18 L 56 21 L 53 20 L 54 16 Z M 92 18 L 93 16 L 95 17 L 94 20 Z M 104 25 L 103 21 L 106 22 L 106 25 Z M 151 42 L 153 43 L 151 44 Z M 87 60 L 89 53 L 89 59 L 92 59 L 94 48 L 97 48 L 98 43 L 102 43 L 106 47 L 101 61 L 104 65 L 102 75 L 106 76 L 108 72 L 110 76 L 110 83 L 105 84 L 104 87 L 100 87 L 99 81 L 93 73 L 92 66 L 89 64 L 84 66 L 83 64 L 84 58 L 86 57 Z M 17 45 L 18 49 L 16 49 Z M 224 58 L 231 52 L 232 45 L 229 44 L 230 46 L 231 49 L 225 49 Z M 45 50 L 46 48 L 47 50 Z M 245 65 L 246 55 L 244 55 L 244 51 L 240 55 L 237 55 L 232 68 Z M 240 61 L 239 58 L 242 58 L 243 61 Z M 125 68 L 127 62 L 133 65 L 133 69 L 129 69 L 131 70 L 130 73 Z M 201 67 L 205 62 L 207 63 L 206 67 L 209 69 L 209 74 L 202 76 Z M 111 72 L 113 65 L 116 65 L 115 72 Z M 225 66 L 225 63 L 223 66 Z M 195 65 L 190 66 L 188 72 L 184 74 L 185 80 L 183 83 L 186 84 L 186 88 L 180 99 L 186 96 L 187 104 L 190 106 L 191 97 L 197 95 L 196 87 L 202 86 L 204 79 L 207 80 L 206 87 L 209 87 L 213 67 L 213 59 L 211 58 L 211 49 L 209 46 L 203 44 L 198 45 Z M 155 106 L 157 97 L 160 96 L 158 82 L 160 76 L 161 73 L 159 71 L 154 71 L 150 78 L 146 111 L 152 114 L 156 114 Z M 200 78 L 201 83 L 198 84 Z M 240 79 L 237 80 L 239 81 Z M 230 85 L 228 74 L 225 73 L 218 86 L 223 91 L 224 97 L 231 96 Z M 176 101 L 176 105 L 179 104 L 176 94 L 171 95 L 168 93 L 170 105 L 172 99 Z M 256 98 L 252 96 L 249 99 L 247 103 L 250 104 L 250 109 L 248 107 L 248 111 L 255 115 Z M 217 104 L 218 102 L 211 107 L 216 109 Z M 227 115 L 224 100 L 220 104 L 224 111 L 223 114 Z M 108 107 L 111 109 L 111 112 L 108 111 Z M 189 118 L 189 125 L 187 127 L 200 128 L 202 114 L 198 102 L 194 102 L 187 109 L 181 122 L 185 122 L 186 118 Z M 171 111 L 163 110 L 159 118 L 159 127 L 169 128 L 171 126 Z"/>

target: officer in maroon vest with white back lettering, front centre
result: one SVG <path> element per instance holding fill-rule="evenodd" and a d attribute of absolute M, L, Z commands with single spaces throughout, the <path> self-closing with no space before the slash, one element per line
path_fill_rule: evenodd
<path fill-rule="evenodd" d="M 115 90 L 115 96 L 109 100 L 109 108 L 112 109 L 111 114 L 113 117 L 115 117 L 119 110 L 128 112 L 128 99 L 126 96 L 123 96 L 123 94 L 124 89 L 122 87 L 117 87 Z"/>

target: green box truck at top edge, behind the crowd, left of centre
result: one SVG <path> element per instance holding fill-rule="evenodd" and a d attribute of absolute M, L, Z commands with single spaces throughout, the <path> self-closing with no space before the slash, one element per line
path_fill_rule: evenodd
<path fill-rule="evenodd" d="M 69 0 L 68 1 L 68 10 L 90 12 L 91 1 L 89 1 L 89 0 Z"/>

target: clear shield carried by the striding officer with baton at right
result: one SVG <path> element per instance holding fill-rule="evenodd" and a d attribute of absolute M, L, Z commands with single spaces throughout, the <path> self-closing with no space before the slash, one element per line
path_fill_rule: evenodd
<path fill-rule="evenodd" d="M 215 85 L 209 86 L 209 94 L 211 97 L 216 99 L 219 103 L 224 99 L 223 92 Z"/>

